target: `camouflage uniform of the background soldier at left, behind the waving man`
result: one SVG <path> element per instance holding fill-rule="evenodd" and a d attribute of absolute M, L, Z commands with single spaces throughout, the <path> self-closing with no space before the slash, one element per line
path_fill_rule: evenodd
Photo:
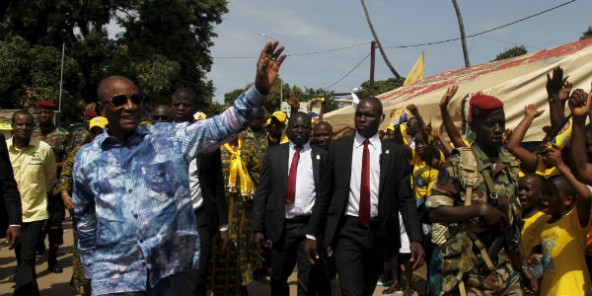
<path fill-rule="evenodd" d="M 44 132 L 48 131 L 49 133 Z M 58 176 L 60 175 L 61 166 L 63 162 L 66 160 L 67 154 L 67 145 L 69 143 L 70 134 L 68 131 L 61 127 L 41 127 L 38 131 L 39 138 L 48 143 L 52 148 L 53 152 L 56 157 L 56 162 L 58 163 L 58 167 L 56 168 L 58 171 Z M 54 194 L 50 194 L 48 202 L 47 202 L 47 211 L 49 212 L 49 219 L 45 225 L 45 232 L 47 233 L 49 239 L 49 258 L 48 263 L 50 265 L 56 262 L 49 262 L 54 261 L 55 257 L 57 256 L 57 249 L 58 246 L 64 243 L 63 239 L 63 232 L 64 229 L 62 227 L 62 222 L 65 218 L 65 209 L 64 203 L 62 202 L 62 198 L 59 192 L 54 192 Z M 54 254 L 55 253 L 55 254 Z"/>

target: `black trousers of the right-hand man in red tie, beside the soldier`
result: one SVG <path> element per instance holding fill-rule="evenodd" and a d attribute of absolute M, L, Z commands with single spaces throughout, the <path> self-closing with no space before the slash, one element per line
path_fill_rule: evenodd
<path fill-rule="evenodd" d="M 361 225 L 358 217 L 346 216 L 344 220 L 334 249 L 341 295 L 372 296 L 384 258 L 372 248 L 370 227 Z"/>

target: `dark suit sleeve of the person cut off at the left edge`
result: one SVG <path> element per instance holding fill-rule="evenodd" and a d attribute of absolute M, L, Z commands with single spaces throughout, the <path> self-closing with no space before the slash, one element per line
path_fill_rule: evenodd
<path fill-rule="evenodd" d="M 0 237 L 9 225 L 21 225 L 21 196 L 14 180 L 4 134 L 0 133 Z"/>

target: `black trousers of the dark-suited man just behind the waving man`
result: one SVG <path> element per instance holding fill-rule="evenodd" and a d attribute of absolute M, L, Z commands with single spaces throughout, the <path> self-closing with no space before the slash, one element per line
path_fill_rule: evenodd
<path fill-rule="evenodd" d="M 197 271 L 197 281 L 193 289 L 192 295 L 205 296 L 207 293 L 206 286 L 208 280 L 208 267 L 210 265 L 210 258 L 212 256 L 212 237 L 208 227 L 208 219 L 203 206 L 195 210 L 195 225 L 197 226 L 197 233 L 199 234 L 199 270 Z"/>

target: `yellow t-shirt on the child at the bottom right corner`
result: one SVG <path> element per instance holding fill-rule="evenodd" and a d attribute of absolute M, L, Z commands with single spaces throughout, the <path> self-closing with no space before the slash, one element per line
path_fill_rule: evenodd
<path fill-rule="evenodd" d="M 545 223 L 541 232 L 543 278 L 540 295 L 586 295 L 590 275 L 584 260 L 589 224 L 581 227 L 577 208 L 554 223 Z"/>

